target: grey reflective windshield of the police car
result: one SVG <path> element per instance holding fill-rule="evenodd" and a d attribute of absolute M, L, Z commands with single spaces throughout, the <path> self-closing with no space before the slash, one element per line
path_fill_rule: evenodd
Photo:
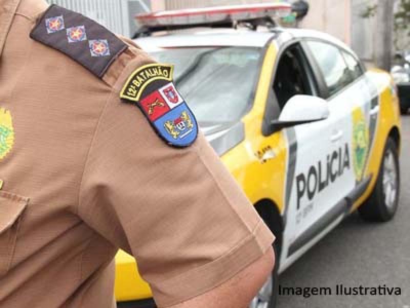
<path fill-rule="evenodd" d="M 151 52 L 174 64 L 174 82 L 201 126 L 238 121 L 248 110 L 260 48 L 187 47 Z"/>

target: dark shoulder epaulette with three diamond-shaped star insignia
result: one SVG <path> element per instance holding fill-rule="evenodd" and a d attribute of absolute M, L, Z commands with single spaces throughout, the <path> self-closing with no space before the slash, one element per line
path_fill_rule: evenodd
<path fill-rule="evenodd" d="M 127 49 L 127 45 L 105 27 L 57 5 L 49 7 L 30 37 L 65 53 L 98 78 Z"/>

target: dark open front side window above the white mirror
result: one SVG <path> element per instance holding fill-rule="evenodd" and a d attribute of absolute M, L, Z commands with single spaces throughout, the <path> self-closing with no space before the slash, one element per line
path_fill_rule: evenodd
<path fill-rule="evenodd" d="M 299 43 L 290 46 L 281 54 L 273 90 L 280 110 L 294 95 L 316 95 L 313 73 Z"/>

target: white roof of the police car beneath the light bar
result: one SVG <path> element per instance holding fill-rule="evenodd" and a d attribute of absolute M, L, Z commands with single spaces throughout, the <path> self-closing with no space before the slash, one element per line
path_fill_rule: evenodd
<path fill-rule="evenodd" d="M 142 37 L 135 42 L 147 51 L 162 47 L 192 46 L 238 46 L 264 47 L 270 40 L 280 48 L 293 38 L 317 38 L 353 51 L 337 38 L 323 32 L 306 29 L 277 28 L 273 32 L 256 32 L 235 29 L 198 29 L 190 32 L 176 32 L 162 36 Z"/>

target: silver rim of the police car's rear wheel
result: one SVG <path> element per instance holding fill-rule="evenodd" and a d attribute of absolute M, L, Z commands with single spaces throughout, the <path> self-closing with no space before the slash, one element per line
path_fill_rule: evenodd
<path fill-rule="evenodd" d="M 390 149 L 384 156 L 383 195 L 387 209 L 394 210 L 397 198 L 397 167 L 393 152 Z"/>

